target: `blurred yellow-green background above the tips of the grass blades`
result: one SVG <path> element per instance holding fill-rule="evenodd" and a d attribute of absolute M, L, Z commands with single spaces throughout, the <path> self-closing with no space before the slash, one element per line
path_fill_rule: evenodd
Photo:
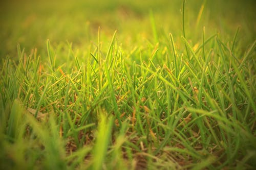
<path fill-rule="evenodd" d="M 155 18 L 159 41 L 165 42 L 172 33 L 177 42 L 182 35 L 181 0 L 113 0 L 113 1 L 5 1 L 0 5 L 0 55 L 16 56 L 17 43 L 26 52 L 37 48 L 46 53 L 46 40 L 53 45 L 73 42 L 81 50 L 97 42 L 98 27 L 102 39 L 111 39 L 117 30 L 118 41 L 126 50 L 145 42 L 153 42 L 150 10 Z M 200 8 L 204 6 L 198 20 Z M 255 40 L 255 1 L 190 0 L 185 6 L 186 37 L 201 41 L 205 26 L 206 36 L 220 32 L 232 40 L 238 36 L 242 48 Z M 198 20 L 198 22 L 197 22 Z M 107 41 L 107 42 L 108 42 Z M 178 45 L 179 46 L 179 45 Z"/>

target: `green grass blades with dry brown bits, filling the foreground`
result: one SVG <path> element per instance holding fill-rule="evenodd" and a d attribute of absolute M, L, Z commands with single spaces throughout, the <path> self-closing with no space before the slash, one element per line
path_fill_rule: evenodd
<path fill-rule="evenodd" d="M 238 32 L 230 47 L 203 30 L 192 46 L 183 27 L 177 48 L 151 21 L 155 44 L 133 51 L 100 29 L 85 54 L 18 45 L 1 67 L 1 168 L 253 168 L 256 41 L 240 55 Z"/>

